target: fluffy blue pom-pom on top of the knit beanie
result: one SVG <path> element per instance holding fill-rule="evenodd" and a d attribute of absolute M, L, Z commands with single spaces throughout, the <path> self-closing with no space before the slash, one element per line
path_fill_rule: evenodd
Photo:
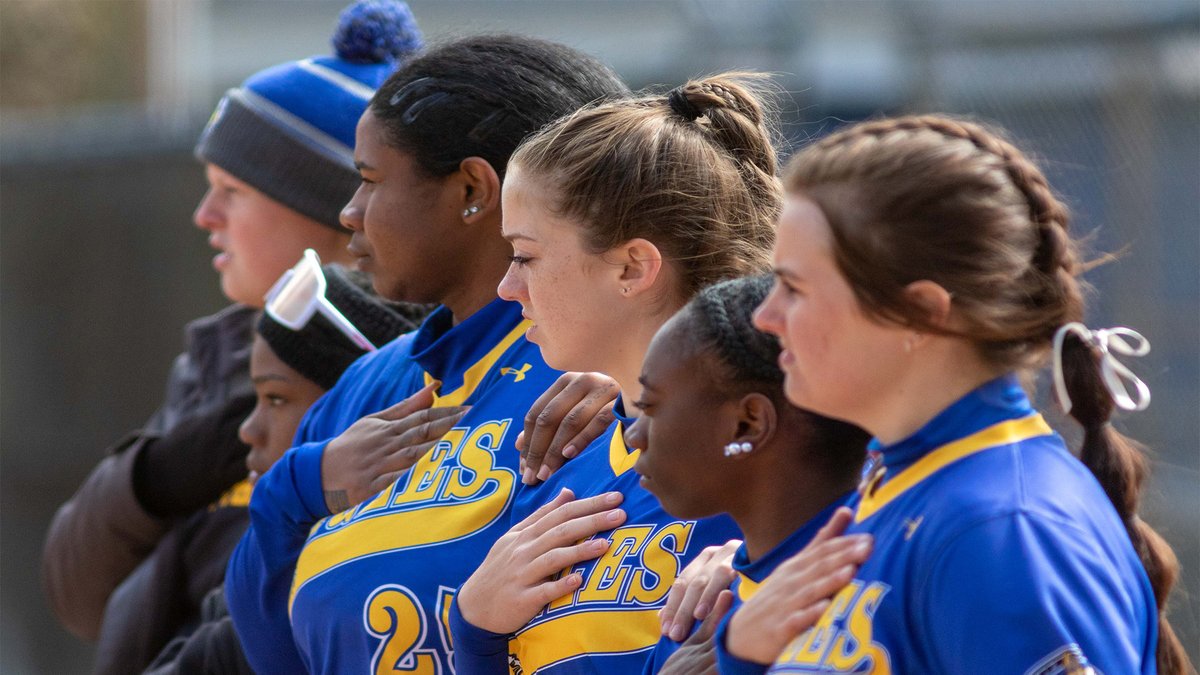
<path fill-rule="evenodd" d="M 424 40 L 413 11 L 396 0 L 359 0 L 342 11 L 334 49 L 347 61 L 398 61 L 421 48 Z"/>

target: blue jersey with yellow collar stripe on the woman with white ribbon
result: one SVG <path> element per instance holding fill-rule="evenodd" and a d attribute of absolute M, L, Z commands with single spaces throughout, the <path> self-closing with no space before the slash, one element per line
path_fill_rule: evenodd
<path fill-rule="evenodd" d="M 850 532 L 874 551 L 769 673 L 1156 671 L 1124 526 L 1015 377 L 872 449 L 886 470 Z"/>

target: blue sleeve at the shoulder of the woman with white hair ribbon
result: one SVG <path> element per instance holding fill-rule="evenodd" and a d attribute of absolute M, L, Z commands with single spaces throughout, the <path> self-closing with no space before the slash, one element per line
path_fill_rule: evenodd
<path fill-rule="evenodd" d="M 1147 617 L 1127 581 L 1069 524 L 995 516 L 943 544 L 914 589 L 914 633 L 940 673 L 1142 673 Z"/>

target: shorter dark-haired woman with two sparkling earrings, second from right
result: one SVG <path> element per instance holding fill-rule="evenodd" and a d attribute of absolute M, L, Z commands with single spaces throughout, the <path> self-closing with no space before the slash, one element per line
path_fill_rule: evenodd
<path fill-rule="evenodd" d="M 784 396 L 779 341 L 750 323 L 769 289 L 766 275 L 718 283 L 668 321 L 646 353 L 642 396 L 634 404 L 641 416 L 625 434 L 641 450 L 634 471 L 667 513 L 727 513 L 738 524 L 744 542 L 733 558 L 733 607 L 814 539 L 853 494 L 866 459 L 863 430 L 797 408 Z M 818 593 L 850 581 L 869 539 L 823 546 L 834 574 L 821 579 L 826 589 Z M 724 614 L 720 603 L 714 609 L 707 629 L 678 652 L 679 641 L 660 639 L 646 671 L 710 667 L 712 631 Z"/>

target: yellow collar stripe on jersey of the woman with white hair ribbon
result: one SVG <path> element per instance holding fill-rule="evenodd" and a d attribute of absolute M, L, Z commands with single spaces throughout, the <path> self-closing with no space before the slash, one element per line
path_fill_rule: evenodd
<path fill-rule="evenodd" d="M 1050 429 L 1045 419 L 1042 419 L 1040 414 L 1033 413 L 1021 419 L 1010 419 L 994 424 L 965 438 L 947 443 L 920 458 L 916 464 L 901 471 L 895 478 L 880 485 L 874 491 L 871 490 L 874 484 L 868 486 L 866 494 L 863 495 L 863 500 L 858 504 L 858 510 L 854 513 L 854 522 L 862 522 L 875 515 L 877 510 L 888 506 L 892 500 L 895 500 L 913 485 L 962 458 L 997 446 L 1008 446 L 1027 438 L 1049 436 L 1051 434 L 1054 434 L 1054 430 Z"/>

